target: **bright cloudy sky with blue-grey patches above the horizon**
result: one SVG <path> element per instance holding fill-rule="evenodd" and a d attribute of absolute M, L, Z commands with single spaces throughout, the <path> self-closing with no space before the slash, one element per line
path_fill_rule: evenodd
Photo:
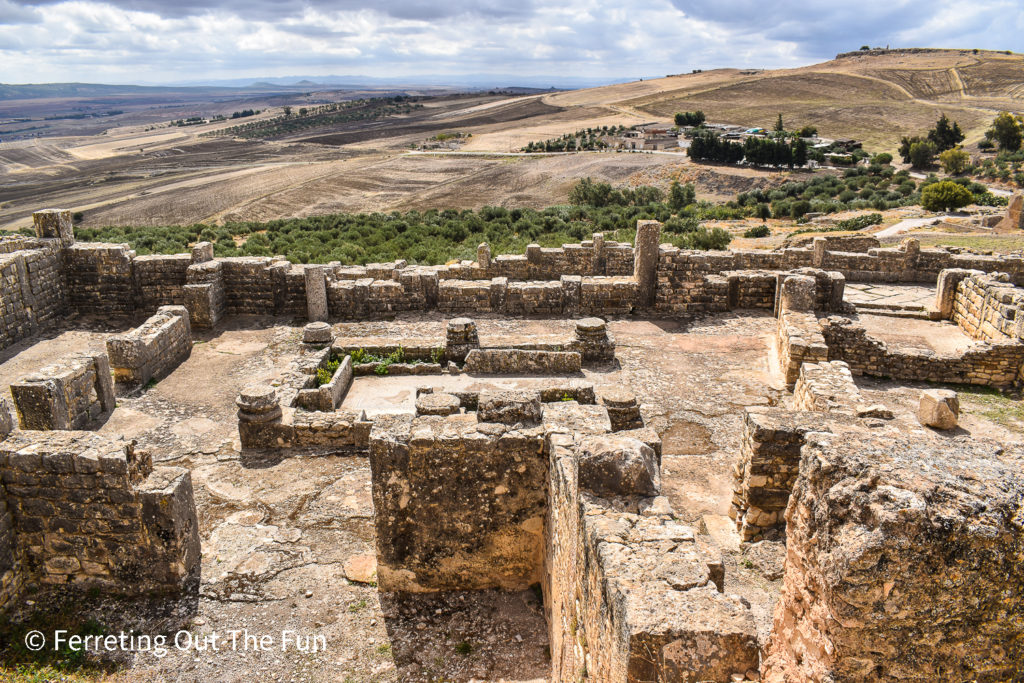
<path fill-rule="evenodd" d="M 862 44 L 1024 51 L 1021 0 L 0 0 L 0 82 L 622 80 Z"/>

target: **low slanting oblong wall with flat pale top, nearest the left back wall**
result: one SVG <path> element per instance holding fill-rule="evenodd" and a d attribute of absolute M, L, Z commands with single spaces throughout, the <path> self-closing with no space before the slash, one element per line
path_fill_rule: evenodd
<path fill-rule="evenodd" d="M 139 327 L 106 340 L 118 389 L 130 391 L 161 379 L 191 355 L 191 326 L 184 306 L 161 306 Z"/>

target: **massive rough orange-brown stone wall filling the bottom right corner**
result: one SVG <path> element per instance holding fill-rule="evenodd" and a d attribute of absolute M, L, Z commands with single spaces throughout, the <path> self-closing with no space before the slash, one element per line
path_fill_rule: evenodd
<path fill-rule="evenodd" d="M 809 438 L 761 680 L 1018 678 L 1024 480 L 1002 453 L 978 440 Z"/>

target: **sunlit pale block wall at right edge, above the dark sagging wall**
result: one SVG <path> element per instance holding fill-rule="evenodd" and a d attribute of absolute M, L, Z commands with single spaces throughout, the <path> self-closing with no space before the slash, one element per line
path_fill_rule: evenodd
<path fill-rule="evenodd" d="M 949 317 L 972 339 L 1024 339 L 1024 289 L 1007 273 L 972 273 L 956 284 Z"/>

